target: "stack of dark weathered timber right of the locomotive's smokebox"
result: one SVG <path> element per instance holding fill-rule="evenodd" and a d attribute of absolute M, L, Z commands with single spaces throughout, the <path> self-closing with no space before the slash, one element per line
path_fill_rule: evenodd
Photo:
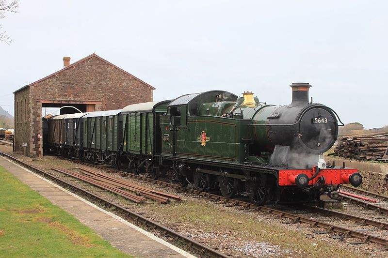
<path fill-rule="evenodd" d="M 388 147 L 388 132 L 345 136 L 338 139 L 334 155 L 358 161 L 381 159 Z"/>

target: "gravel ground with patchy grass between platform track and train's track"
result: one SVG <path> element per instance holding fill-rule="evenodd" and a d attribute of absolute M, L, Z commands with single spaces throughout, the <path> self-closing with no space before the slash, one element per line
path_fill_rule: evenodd
<path fill-rule="evenodd" d="M 1 148 L 0 151 L 2 151 Z M 228 207 L 220 202 L 209 202 L 194 195 L 177 193 L 170 188 L 163 188 L 152 183 L 122 178 L 118 173 L 111 174 L 166 193 L 178 194 L 182 198 L 182 201 L 172 201 L 170 204 L 160 204 L 155 201 L 147 201 L 142 205 L 133 204 L 122 197 L 107 193 L 97 187 L 50 169 L 52 166 L 75 169 L 79 165 L 53 156 L 45 156 L 41 159 L 23 157 L 15 153 L 10 154 L 34 167 L 50 171 L 68 182 L 81 185 L 88 191 L 114 201 L 133 212 L 140 213 L 233 257 L 388 257 L 387 252 L 376 251 L 382 248 L 377 244 L 351 245 L 347 242 L 358 240 L 333 240 L 329 238 L 333 234 L 312 233 L 313 230 L 322 229 L 312 229 L 307 227 L 307 224 L 283 224 L 282 222 L 288 220 L 284 218 L 277 219 L 273 215 L 262 212 L 243 210 L 241 207 Z M 304 213 L 304 211 L 296 212 L 301 212 L 303 216 L 316 219 L 339 221 L 338 218 L 323 217 L 320 214 Z M 352 214 L 358 212 L 359 215 L 363 214 L 362 212 L 365 212 L 365 210 L 363 208 L 344 207 L 340 212 L 354 212 Z M 366 214 L 363 215 L 366 216 Z M 370 214 L 370 216 L 373 215 Z M 349 224 L 353 223 L 350 222 Z M 363 226 L 362 228 L 367 227 Z M 160 235 L 158 232 L 153 233 Z M 172 241 L 168 238 L 165 239 Z M 180 243 L 176 243 L 176 245 L 179 246 Z"/>

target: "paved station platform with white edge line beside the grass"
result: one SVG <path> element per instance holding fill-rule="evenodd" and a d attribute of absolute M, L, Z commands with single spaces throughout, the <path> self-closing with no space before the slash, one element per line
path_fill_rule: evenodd
<path fill-rule="evenodd" d="M 72 214 L 81 223 L 94 230 L 102 239 L 110 242 L 123 253 L 146 258 L 195 258 L 193 255 L 125 221 L 112 212 L 97 207 L 93 203 L 1 156 L 0 166 L 50 202 Z"/>

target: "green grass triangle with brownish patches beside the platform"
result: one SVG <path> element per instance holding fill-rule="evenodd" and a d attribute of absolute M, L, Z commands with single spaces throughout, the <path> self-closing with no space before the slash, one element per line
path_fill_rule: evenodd
<path fill-rule="evenodd" d="M 0 167 L 0 257 L 129 257 Z"/>

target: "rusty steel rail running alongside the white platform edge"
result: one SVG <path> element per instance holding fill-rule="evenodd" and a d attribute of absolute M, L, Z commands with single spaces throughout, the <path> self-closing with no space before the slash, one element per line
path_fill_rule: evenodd
<path fill-rule="evenodd" d="M 158 230 L 164 236 L 169 236 L 169 237 L 175 239 L 175 241 L 177 241 L 177 242 L 182 241 L 183 243 L 187 244 L 190 248 L 195 249 L 201 255 L 207 255 L 210 257 L 214 257 L 214 258 L 230 258 L 228 255 L 221 253 L 221 252 L 219 252 L 219 251 L 217 251 L 217 250 L 215 250 L 215 249 L 213 249 L 205 244 L 199 243 L 199 242 L 195 241 L 194 239 L 191 239 L 191 238 L 188 238 L 184 235 L 181 235 L 178 232 L 176 232 L 170 228 L 166 228 L 166 227 L 162 226 L 161 224 L 156 223 L 150 219 L 147 219 L 146 217 L 144 217 L 140 214 L 129 211 L 126 208 L 121 207 L 117 204 L 114 204 L 113 202 L 110 202 L 102 197 L 98 197 L 97 195 L 95 195 L 93 193 L 90 193 L 86 190 L 83 190 L 80 187 L 75 186 L 71 183 L 65 182 L 65 181 L 47 173 L 47 172 L 44 172 L 36 167 L 32 167 L 31 165 L 28 165 L 27 163 L 24 163 L 24 162 L 16 159 L 15 157 L 13 157 L 9 154 L 6 154 L 4 152 L 0 152 L 0 154 L 8 157 L 9 159 L 13 160 L 14 162 L 18 163 L 21 166 L 28 168 L 32 172 L 49 179 L 52 182 L 55 182 L 55 183 L 60 184 L 62 186 L 65 186 L 66 189 L 69 189 L 77 194 L 82 194 L 86 197 L 89 197 L 90 199 L 92 199 L 94 202 L 97 202 L 98 204 L 104 205 L 108 208 L 114 207 L 116 212 L 118 212 L 120 214 L 120 216 L 123 218 L 131 218 L 131 219 L 135 220 L 136 222 L 138 222 L 139 224 L 142 224 L 142 225 L 149 227 L 149 228 L 152 228 L 154 230 Z"/>

